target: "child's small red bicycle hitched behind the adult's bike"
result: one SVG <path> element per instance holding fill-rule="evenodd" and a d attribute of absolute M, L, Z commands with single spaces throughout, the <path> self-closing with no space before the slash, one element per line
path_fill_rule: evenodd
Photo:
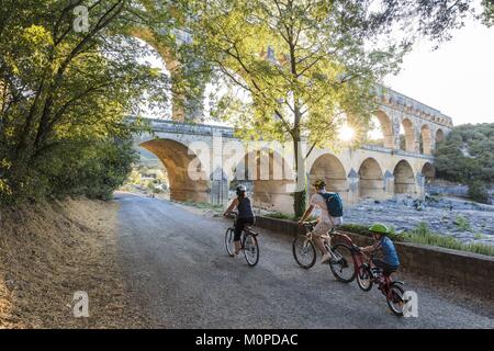
<path fill-rule="evenodd" d="M 391 274 L 395 271 L 391 271 L 384 274 L 383 270 L 377 267 L 371 267 L 371 261 L 374 254 L 371 254 L 367 262 L 367 257 L 358 247 L 355 248 L 358 254 L 361 257 L 357 269 L 357 284 L 364 292 L 370 292 L 374 283 L 378 284 L 378 288 L 386 297 L 388 306 L 391 312 L 398 317 L 403 317 L 403 312 L 407 301 L 404 297 L 405 290 L 404 283 L 401 281 L 393 281 Z"/>

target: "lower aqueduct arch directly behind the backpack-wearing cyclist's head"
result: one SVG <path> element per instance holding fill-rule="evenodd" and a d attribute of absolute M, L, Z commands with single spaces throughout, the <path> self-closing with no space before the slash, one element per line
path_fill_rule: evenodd
<path fill-rule="evenodd" d="M 343 162 L 336 156 L 324 154 L 314 161 L 308 174 L 311 193 L 314 192 L 312 184 L 318 179 L 325 180 L 327 191 L 340 193 L 341 197 L 348 201 L 349 183 L 347 173 Z"/>

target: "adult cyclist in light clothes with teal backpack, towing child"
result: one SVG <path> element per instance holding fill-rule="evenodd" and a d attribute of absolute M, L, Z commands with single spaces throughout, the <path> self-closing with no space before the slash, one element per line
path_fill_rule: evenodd
<path fill-rule="evenodd" d="M 310 206 L 307 211 L 305 211 L 302 218 L 299 220 L 299 224 L 302 225 L 315 208 L 319 210 L 321 214 L 318 223 L 314 228 L 314 230 L 312 231 L 312 235 L 315 245 L 323 252 L 321 263 L 327 263 L 333 259 L 333 257 L 329 250 L 324 246 L 324 241 L 321 238 L 321 236 L 327 234 L 333 227 L 341 225 L 343 217 L 333 217 L 329 215 L 325 200 L 325 195 L 328 193 L 326 191 L 326 183 L 324 182 L 324 180 L 317 180 L 314 183 L 314 186 L 316 189 L 316 194 L 312 195 Z M 330 246 L 330 242 L 328 244 Z"/>

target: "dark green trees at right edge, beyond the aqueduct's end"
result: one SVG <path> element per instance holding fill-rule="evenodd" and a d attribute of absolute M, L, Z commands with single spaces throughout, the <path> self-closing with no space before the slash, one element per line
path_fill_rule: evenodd
<path fill-rule="evenodd" d="M 486 203 L 494 183 L 494 124 L 460 125 L 436 150 L 437 177 L 469 184 L 470 196 Z"/>

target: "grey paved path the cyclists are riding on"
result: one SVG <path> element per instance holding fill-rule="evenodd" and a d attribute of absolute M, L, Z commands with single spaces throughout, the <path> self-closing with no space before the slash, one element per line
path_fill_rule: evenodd
<path fill-rule="evenodd" d="M 291 241 L 260 236 L 260 261 L 227 257 L 229 222 L 181 205 L 117 194 L 119 240 L 137 303 L 168 328 L 494 328 L 494 320 L 417 291 L 419 318 L 390 314 L 378 290 L 335 281 L 328 265 L 293 260 Z M 413 288 L 413 286 L 407 286 Z"/>

